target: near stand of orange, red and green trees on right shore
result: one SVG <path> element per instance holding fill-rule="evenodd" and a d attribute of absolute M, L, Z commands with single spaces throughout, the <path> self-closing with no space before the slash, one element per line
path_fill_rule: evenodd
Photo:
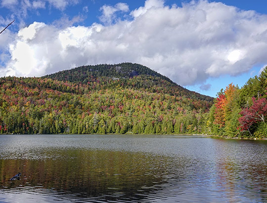
<path fill-rule="evenodd" d="M 208 132 L 229 137 L 267 137 L 267 67 L 239 88 L 229 84 L 210 109 Z"/>

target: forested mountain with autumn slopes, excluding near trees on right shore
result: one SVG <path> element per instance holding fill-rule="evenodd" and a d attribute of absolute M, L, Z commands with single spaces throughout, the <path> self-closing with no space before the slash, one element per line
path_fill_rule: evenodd
<path fill-rule="evenodd" d="M 0 78 L 0 133 L 205 133 L 212 104 L 138 64 L 83 66 Z"/>

